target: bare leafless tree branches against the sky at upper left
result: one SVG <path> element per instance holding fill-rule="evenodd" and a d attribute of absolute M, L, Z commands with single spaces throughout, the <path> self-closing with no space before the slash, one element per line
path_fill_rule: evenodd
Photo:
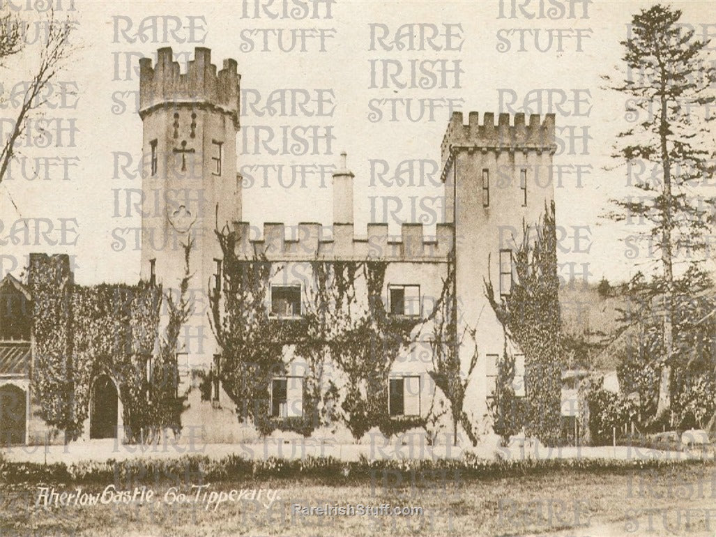
<path fill-rule="evenodd" d="M 74 50 L 69 40 L 74 29 L 74 21 L 69 16 L 65 19 L 56 18 L 53 10 L 48 11 L 46 16 L 45 39 L 34 45 L 39 47 L 36 55 L 39 63 L 34 70 L 32 79 L 26 84 L 21 105 L 16 112 L 14 126 L 2 140 L 0 183 L 4 180 L 8 166 L 14 158 L 15 142 L 24 132 L 26 121 L 32 117 L 34 111 L 42 109 L 52 98 L 51 92 L 48 91 L 51 87 L 50 84 Z M 24 42 L 24 35 L 29 23 L 8 11 L 0 15 L 0 24 L 0 69 L 3 69 L 6 67 L 5 63 L 9 57 L 21 52 L 29 53 Z M 7 77 L 3 75 L 3 79 L 7 79 Z"/>

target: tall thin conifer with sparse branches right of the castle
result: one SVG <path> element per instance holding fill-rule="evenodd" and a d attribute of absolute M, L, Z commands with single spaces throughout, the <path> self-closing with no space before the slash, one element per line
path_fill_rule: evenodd
<path fill-rule="evenodd" d="M 640 235 L 660 254 L 660 276 L 652 283 L 662 304 L 664 339 L 657 418 L 671 406 L 674 264 L 684 254 L 692 261 L 707 246 L 715 203 L 697 192 L 714 173 L 716 144 L 709 122 L 716 76 L 706 62 L 708 42 L 695 39 L 695 31 L 679 23 L 681 16 L 662 5 L 634 15 L 629 37 L 621 42 L 624 79 L 604 77 L 630 97 L 627 120 L 633 124 L 619 134 L 614 156 L 632 171 L 647 170 L 629 177 L 641 193 L 614 200 L 618 210 L 610 216 L 647 223 L 648 231 Z"/>

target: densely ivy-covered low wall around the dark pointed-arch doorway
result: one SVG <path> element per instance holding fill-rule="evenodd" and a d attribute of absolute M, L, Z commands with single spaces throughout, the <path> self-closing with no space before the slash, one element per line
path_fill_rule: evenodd
<path fill-rule="evenodd" d="M 127 440 L 151 440 L 165 427 L 178 431 L 176 339 L 160 337 L 161 287 L 79 286 L 64 255 L 32 254 L 28 274 L 39 416 L 66 441 L 87 433 L 92 382 L 107 374 L 122 401 Z"/>

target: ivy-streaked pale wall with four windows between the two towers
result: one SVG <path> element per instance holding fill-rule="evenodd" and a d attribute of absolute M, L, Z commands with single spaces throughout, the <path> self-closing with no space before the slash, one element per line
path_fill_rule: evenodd
<path fill-rule="evenodd" d="M 344 428 L 359 440 L 374 428 L 387 437 L 417 428 L 434 440 L 441 421 L 452 437 L 445 392 L 453 395 L 453 383 L 442 381 L 460 377 L 459 362 L 439 360 L 440 374 L 432 374 L 435 326 L 454 330 L 442 318 L 435 323 L 437 311 L 449 300 L 444 289 L 452 288 L 447 260 L 269 261 L 260 255 L 237 256 L 233 233 L 220 233 L 219 240 L 224 254 L 221 292 L 210 294 L 222 354 L 212 375 L 218 374 L 236 405 L 239 422 L 253 425 L 261 435 L 281 430 L 309 436 L 321 428 Z M 271 284 L 294 283 L 301 284 L 301 316 L 274 318 Z M 421 284 L 420 316 L 388 313 L 389 284 Z M 296 371 L 303 377 L 303 415 L 271 417 L 271 379 Z M 390 415 L 389 379 L 395 374 L 420 376 L 419 415 Z M 209 384 L 205 382 L 205 391 Z"/>

